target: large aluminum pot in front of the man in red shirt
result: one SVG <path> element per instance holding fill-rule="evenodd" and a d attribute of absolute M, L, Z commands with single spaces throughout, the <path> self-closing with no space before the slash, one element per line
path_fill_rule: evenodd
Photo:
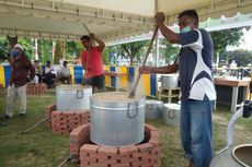
<path fill-rule="evenodd" d="M 56 108 L 59 111 L 83 111 L 90 108 L 91 86 L 60 85 L 56 87 Z"/>

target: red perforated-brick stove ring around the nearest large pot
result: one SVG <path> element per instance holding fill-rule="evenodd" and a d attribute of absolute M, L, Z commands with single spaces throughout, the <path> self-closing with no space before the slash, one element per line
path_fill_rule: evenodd
<path fill-rule="evenodd" d="M 113 147 L 90 141 L 90 123 L 70 133 L 70 154 L 80 159 L 80 167 L 160 167 L 160 131 L 145 124 L 145 140 L 136 145 Z"/>

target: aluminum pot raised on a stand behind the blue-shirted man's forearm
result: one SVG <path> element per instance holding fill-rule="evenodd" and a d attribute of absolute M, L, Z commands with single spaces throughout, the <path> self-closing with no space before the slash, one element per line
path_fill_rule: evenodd
<path fill-rule="evenodd" d="M 177 74 L 161 75 L 161 86 L 162 87 L 169 87 L 169 88 L 177 87 L 179 86 L 177 82 L 179 82 Z"/>

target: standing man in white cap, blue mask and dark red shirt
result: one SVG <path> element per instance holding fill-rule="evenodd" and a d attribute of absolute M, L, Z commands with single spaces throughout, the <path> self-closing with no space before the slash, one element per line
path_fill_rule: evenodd
<path fill-rule="evenodd" d="M 11 77 L 7 94 L 7 109 L 4 119 L 13 117 L 16 94 L 21 97 L 20 117 L 26 112 L 26 83 L 33 80 L 35 69 L 24 55 L 22 45 L 16 44 L 11 52 Z"/>

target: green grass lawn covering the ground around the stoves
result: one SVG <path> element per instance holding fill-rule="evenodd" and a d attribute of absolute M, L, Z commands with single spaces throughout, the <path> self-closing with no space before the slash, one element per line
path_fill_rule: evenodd
<path fill-rule="evenodd" d="M 4 115 L 7 90 L 0 90 L 0 116 Z M 0 167 L 57 167 L 69 157 L 69 135 L 54 134 L 45 123 L 19 136 L 16 134 L 45 118 L 45 106 L 55 103 L 55 90 L 45 95 L 27 96 L 26 118 L 15 117 L 8 126 L 0 127 Z M 19 106 L 19 100 L 16 106 Z M 218 107 L 214 112 L 214 150 L 226 144 L 226 128 L 231 117 L 228 108 Z M 167 126 L 162 120 L 147 120 L 161 130 L 162 167 L 186 166 L 180 143 L 179 128 Z M 252 142 L 252 118 L 240 118 L 236 124 L 234 143 Z M 75 167 L 67 163 L 65 167 Z"/>

